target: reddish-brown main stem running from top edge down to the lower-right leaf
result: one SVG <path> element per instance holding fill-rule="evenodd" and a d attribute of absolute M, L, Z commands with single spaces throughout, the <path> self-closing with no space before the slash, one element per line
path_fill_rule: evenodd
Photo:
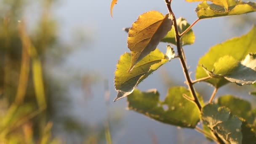
<path fill-rule="evenodd" d="M 173 13 L 173 11 L 171 9 L 171 0 L 170 0 L 170 2 L 168 0 L 165 0 L 165 3 L 166 3 L 166 6 L 168 8 L 169 13 L 172 16 L 173 26 L 174 26 L 174 29 L 175 29 L 175 38 L 176 38 L 176 44 L 177 44 L 177 51 L 178 51 L 178 54 L 179 54 L 179 59 L 181 61 L 181 65 L 182 65 L 182 69 L 183 69 L 184 75 L 185 75 L 186 80 L 187 80 L 187 85 L 189 87 L 191 95 L 195 99 L 195 103 L 196 103 L 198 109 L 201 111 L 202 106 L 201 106 L 199 100 L 197 99 L 197 95 L 195 93 L 195 88 L 193 87 L 193 83 L 192 83 L 192 80 L 190 79 L 189 72 L 188 72 L 188 69 L 187 69 L 187 64 L 186 64 L 186 61 L 185 61 L 184 52 L 182 51 L 182 48 L 181 48 L 181 41 L 180 41 L 181 37 L 179 35 L 179 31 L 178 31 L 175 15 L 174 15 L 174 13 Z"/>

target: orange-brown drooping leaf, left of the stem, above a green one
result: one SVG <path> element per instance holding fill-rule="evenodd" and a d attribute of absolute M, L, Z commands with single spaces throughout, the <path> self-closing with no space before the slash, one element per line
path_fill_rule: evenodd
<path fill-rule="evenodd" d="M 157 11 L 149 11 L 139 16 L 128 32 L 128 48 L 131 50 L 131 71 L 136 63 L 154 51 L 160 40 L 172 27 L 169 14 L 163 16 Z"/>

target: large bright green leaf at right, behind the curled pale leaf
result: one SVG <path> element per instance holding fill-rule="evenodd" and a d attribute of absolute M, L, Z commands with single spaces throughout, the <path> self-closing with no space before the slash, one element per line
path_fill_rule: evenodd
<path fill-rule="evenodd" d="M 253 27 L 248 34 L 241 37 L 235 37 L 230 40 L 227 40 L 224 43 L 218 44 L 210 48 L 208 53 L 198 61 L 195 77 L 196 79 L 208 77 L 208 73 L 205 72 L 203 67 L 206 67 L 208 70 L 217 71 L 218 69 L 232 69 L 230 64 L 235 64 L 235 61 L 232 58 L 229 59 L 229 64 L 218 65 L 215 64 L 217 61 L 221 62 L 221 57 L 231 56 L 236 61 L 242 61 L 246 55 L 249 53 L 256 53 L 256 27 Z M 222 67 L 222 68 L 221 68 Z M 220 71 L 221 72 L 221 71 Z M 211 83 L 214 87 L 219 88 L 228 83 L 224 78 L 211 78 L 205 80 L 205 82 Z"/>

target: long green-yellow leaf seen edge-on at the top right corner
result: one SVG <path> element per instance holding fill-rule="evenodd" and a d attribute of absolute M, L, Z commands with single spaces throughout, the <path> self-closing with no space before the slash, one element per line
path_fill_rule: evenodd
<path fill-rule="evenodd" d="M 223 5 L 208 4 L 206 1 L 197 5 L 197 17 L 199 19 L 214 18 L 219 16 L 239 15 L 256 11 L 256 3 L 235 1 Z"/>

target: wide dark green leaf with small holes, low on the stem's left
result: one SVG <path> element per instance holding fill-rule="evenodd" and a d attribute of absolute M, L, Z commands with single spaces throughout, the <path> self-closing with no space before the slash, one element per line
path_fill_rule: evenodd
<path fill-rule="evenodd" d="M 200 119 L 200 111 L 194 103 L 185 99 L 183 94 L 192 97 L 184 87 L 169 88 L 164 101 L 159 100 L 156 90 L 141 92 L 136 89 L 127 97 L 128 109 L 162 123 L 195 128 Z M 202 97 L 198 97 L 203 104 Z"/>

